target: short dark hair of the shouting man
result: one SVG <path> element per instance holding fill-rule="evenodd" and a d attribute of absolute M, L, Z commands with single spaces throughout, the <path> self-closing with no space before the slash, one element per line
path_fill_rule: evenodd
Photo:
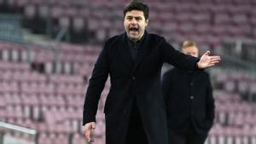
<path fill-rule="evenodd" d="M 124 9 L 124 17 L 125 17 L 125 14 L 126 14 L 127 12 L 130 12 L 131 10 L 143 11 L 145 20 L 148 20 L 149 9 L 148 9 L 148 5 L 147 5 L 147 4 L 144 4 L 143 2 L 140 2 L 140 1 L 137 1 L 137 0 L 131 1 L 130 3 L 128 3 L 128 4 L 125 6 L 125 9 Z"/>

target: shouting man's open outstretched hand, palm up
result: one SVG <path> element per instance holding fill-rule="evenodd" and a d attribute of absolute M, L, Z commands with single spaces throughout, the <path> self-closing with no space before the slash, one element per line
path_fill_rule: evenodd
<path fill-rule="evenodd" d="M 197 62 L 199 68 L 207 68 L 215 66 L 220 61 L 220 56 L 210 56 L 210 51 L 207 51 L 201 56 L 200 60 Z"/>

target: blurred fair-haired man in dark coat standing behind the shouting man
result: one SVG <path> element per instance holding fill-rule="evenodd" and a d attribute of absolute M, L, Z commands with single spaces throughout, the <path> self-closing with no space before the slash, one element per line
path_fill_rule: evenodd
<path fill-rule="evenodd" d="M 198 57 L 193 41 L 185 41 L 184 54 Z M 214 99 L 209 74 L 173 68 L 164 74 L 169 144 L 204 144 L 214 118 Z"/>

